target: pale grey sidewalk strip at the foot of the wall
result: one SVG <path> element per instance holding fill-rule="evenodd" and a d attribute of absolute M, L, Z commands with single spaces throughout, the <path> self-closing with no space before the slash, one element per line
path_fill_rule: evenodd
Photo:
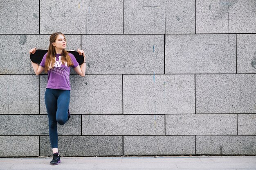
<path fill-rule="evenodd" d="M 0 158 L 1 170 L 85 169 L 85 170 L 170 170 L 170 169 L 246 169 L 256 170 L 256 156 L 204 157 L 61 157 L 51 166 L 52 157 Z"/>

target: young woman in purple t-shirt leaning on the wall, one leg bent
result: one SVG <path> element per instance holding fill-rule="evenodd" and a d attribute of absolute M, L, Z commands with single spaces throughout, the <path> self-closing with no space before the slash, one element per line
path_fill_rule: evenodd
<path fill-rule="evenodd" d="M 58 153 L 57 123 L 63 125 L 70 118 L 70 66 L 80 76 L 85 76 L 86 69 L 84 51 L 78 49 L 79 54 L 84 57 L 84 62 L 80 67 L 74 55 L 65 50 L 66 42 L 65 35 L 60 32 L 53 33 L 50 36 L 48 52 L 44 55 L 40 65 L 38 66 L 38 64 L 31 61 L 36 75 L 39 75 L 43 70 L 48 73 L 45 106 L 49 119 L 49 137 L 53 151 L 51 165 L 57 165 L 61 162 Z M 36 48 L 29 50 L 29 54 L 35 52 Z"/>

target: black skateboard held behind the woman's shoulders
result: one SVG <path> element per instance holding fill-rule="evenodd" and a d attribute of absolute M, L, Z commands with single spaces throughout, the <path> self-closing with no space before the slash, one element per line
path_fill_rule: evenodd
<path fill-rule="evenodd" d="M 46 52 L 48 52 L 48 50 L 46 50 L 46 49 L 36 49 L 35 54 L 32 54 L 32 53 L 30 54 L 30 60 L 33 63 L 40 64 Z M 83 61 L 84 61 L 83 55 L 80 55 L 78 53 L 78 51 L 70 50 L 67 52 L 69 52 L 75 56 L 76 61 L 79 63 L 79 65 L 81 65 L 83 63 Z"/>

